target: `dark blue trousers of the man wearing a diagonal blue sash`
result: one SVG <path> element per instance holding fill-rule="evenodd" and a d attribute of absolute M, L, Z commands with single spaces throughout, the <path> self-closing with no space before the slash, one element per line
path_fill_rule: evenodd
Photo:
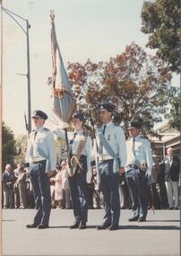
<path fill-rule="evenodd" d="M 119 174 L 113 172 L 113 160 L 99 163 L 100 189 L 105 202 L 104 223 L 119 225 Z"/>

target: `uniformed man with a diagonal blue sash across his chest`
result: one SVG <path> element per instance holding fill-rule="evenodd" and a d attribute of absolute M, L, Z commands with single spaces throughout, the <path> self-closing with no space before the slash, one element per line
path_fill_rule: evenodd
<path fill-rule="evenodd" d="M 103 224 L 98 226 L 99 230 L 116 230 L 119 226 L 119 174 L 125 172 L 126 148 L 123 128 L 112 122 L 113 110 L 111 103 L 102 103 L 99 108 L 102 126 L 97 130 L 96 136 L 98 177 L 106 211 Z"/>

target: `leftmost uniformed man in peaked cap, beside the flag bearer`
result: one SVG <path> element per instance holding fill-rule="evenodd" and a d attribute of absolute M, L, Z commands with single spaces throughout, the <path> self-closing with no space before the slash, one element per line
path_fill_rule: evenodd
<path fill-rule="evenodd" d="M 32 116 L 35 129 L 30 133 L 26 163 L 29 164 L 29 176 L 32 184 L 37 214 L 27 228 L 44 229 L 48 227 L 51 210 L 50 177 L 56 168 L 56 147 L 53 133 L 44 128 L 47 114 L 35 110 Z"/>

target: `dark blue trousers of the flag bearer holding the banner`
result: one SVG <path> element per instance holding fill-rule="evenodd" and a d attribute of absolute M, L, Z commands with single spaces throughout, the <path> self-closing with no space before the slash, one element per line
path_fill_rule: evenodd
<path fill-rule="evenodd" d="M 79 172 L 73 177 L 69 177 L 68 181 L 75 220 L 87 222 L 89 202 L 86 172 Z"/>

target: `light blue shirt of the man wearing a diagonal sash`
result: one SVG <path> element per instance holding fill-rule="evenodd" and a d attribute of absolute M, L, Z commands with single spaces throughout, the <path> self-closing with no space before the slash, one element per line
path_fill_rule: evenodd
<path fill-rule="evenodd" d="M 104 124 L 101 127 L 102 130 L 103 130 L 103 127 L 104 127 Z M 107 139 L 109 146 L 112 147 L 113 151 L 119 158 L 119 160 L 120 160 L 119 167 L 125 167 L 126 145 L 125 145 L 124 129 L 119 126 L 116 126 L 112 121 L 110 121 L 110 122 L 108 122 L 108 124 L 106 124 L 104 137 Z M 96 140 L 97 140 L 98 147 L 99 147 L 100 146 L 99 130 L 96 131 Z M 95 154 L 95 146 L 94 146 L 94 154 Z M 110 156 L 104 146 L 102 147 L 102 155 Z"/>

